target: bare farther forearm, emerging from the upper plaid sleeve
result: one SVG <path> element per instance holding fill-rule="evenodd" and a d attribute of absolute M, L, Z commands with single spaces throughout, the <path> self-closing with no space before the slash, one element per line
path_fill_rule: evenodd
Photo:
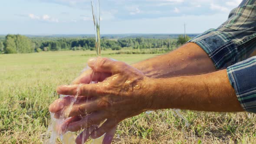
<path fill-rule="evenodd" d="M 151 78 L 194 75 L 215 70 L 215 66 L 207 53 L 195 43 L 187 43 L 173 52 L 132 66 Z"/>

